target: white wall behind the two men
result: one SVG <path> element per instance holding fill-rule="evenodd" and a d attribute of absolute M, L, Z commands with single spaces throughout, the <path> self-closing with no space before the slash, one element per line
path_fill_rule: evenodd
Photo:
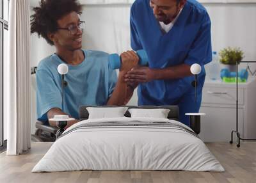
<path fill-rule="evenodd" d="M 125 0 L 125 2 L 129 1 Z M 224 0 L 218 0 L 218 2 L 222 1 Z M 82 20 L 86 22 L 83 48 L 109 53 L 121 53 L 131 49 L 129 36 L 131 4 L 125 4 L 125 2 L 104 4 L 108 2 L 103 0 L 99 2 L 98 5 L 86 4 L 83 8 Z M 241 47 L 245 54 L 244 60 L 256 60 L 256 3 L 205 3 L 204 6 L 212 20 L 212 49 L 220 51 L 227 46 Z M 31 66 L 36 66 L 42 58 L 55 51 L 54 47 L 47 45 L 37 35 L 32 35 L 31 45 Z M 35 76 L 32 76 L 31 81 L 31 109 L 33 110 L 31 111 L 31 131 L 33 132 L 35 130 L 33 122 L 36 121 Z M 134 95 L 129 104 L 136 104 L 136 101 L 137 96 Z"/>

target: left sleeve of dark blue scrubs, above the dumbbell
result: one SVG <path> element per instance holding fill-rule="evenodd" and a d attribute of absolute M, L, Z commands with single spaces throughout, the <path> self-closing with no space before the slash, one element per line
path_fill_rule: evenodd
<path fill-rule="evenodd" d="M 138 31 L 136 29 L 136 24 L 134 22 L 133 8 L 131 8 L 131 15 L 130 15 L 130 29 L 131 29 L 131 48 L 134 51 L 138 51 L 140 49 L 143 49 L 143 47 L 141 45 L 141 41 L 140 41 L 140 36 L 139 36 Z"/>

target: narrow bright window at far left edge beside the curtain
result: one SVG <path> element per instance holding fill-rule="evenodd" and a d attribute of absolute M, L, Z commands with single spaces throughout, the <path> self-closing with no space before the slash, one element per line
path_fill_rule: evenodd
<path fill-rule="evenodd" d="M 9 0 L 0 0 L 0 147 L 6 142 L 6 124 L 3 122 L 3 63 L 7 59 Z M 1 148 L 0 148 L 1 151 Z"/>

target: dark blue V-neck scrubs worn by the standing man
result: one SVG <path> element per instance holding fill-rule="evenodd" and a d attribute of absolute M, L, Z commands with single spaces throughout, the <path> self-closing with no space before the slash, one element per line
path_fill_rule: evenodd
<path fill-rule="evenodd" d="M 138 105 L 179 104 L 180 113 L 196 112 L 202 99 L 204 65 L 212 60 L 209 15 L 200 3 L 188 0 L 173 28 L 168 33 L 163 33 L 149 1 L 136 0 L 132 4 L 130 17 L 132 49 L 135 51 L 144 49 L 147 52 L 150 68 L 198 63 L 202 67 L 202 72 L 198 76 L 196 104 L 193 100 L 195 88 L 191 85 L 194 76 L 189 76 L 141 83 L 138 87 Z M 188 119 L 184 123 L 188 124 Z"/>

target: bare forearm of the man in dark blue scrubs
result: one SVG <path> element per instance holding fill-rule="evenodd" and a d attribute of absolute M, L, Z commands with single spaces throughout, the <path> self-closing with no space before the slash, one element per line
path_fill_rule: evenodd
<path fill-rule="evenodd" d="M 153 69 L 154 79 L 179 79 L 186 76 L 192 76 L 190 66 L 181 64 L 173 67 Z"/>

